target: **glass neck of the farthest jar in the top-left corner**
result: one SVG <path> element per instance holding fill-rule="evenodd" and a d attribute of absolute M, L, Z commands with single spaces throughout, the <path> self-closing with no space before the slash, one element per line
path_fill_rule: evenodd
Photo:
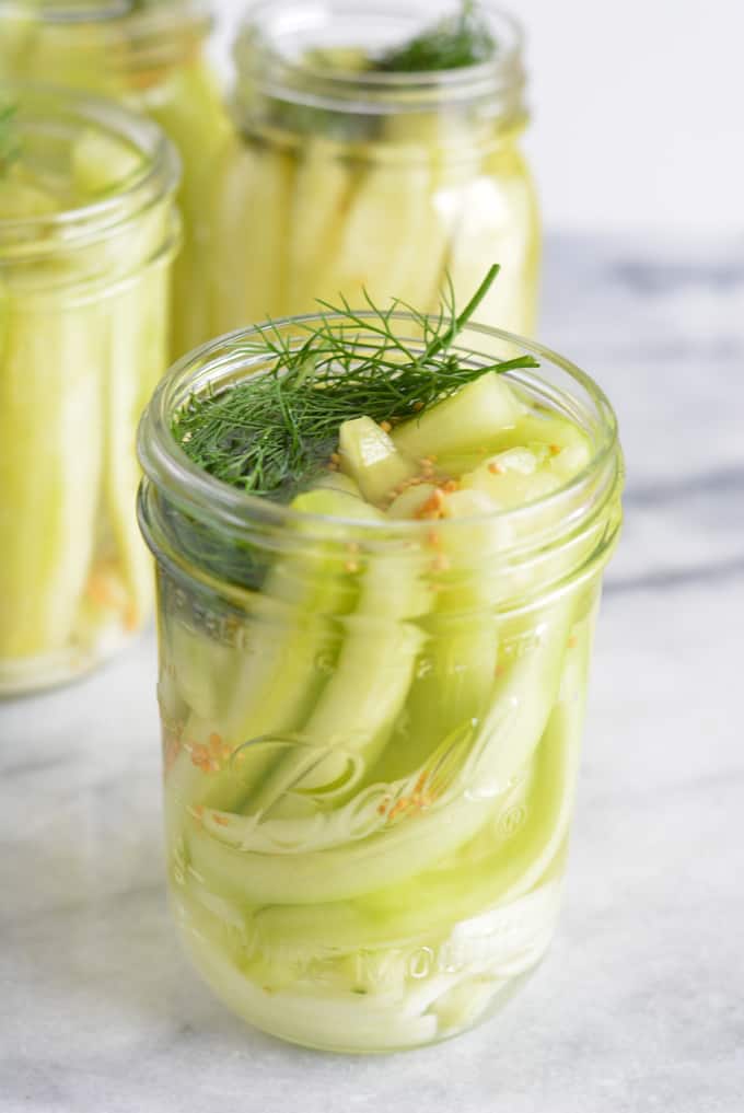
<path fill-rule="evenodd" d="M 60 50 L 87 58 L 100 52 L 107 70 L 148 70 L 194 53 L 214 26 L 210 0 L 0 0 L 3 20 L 38 24 L 59 36 Z M 95 32 L 91 39 L 86 31 Z M 92 46 L 91 46 L 92 43 Z"/>

